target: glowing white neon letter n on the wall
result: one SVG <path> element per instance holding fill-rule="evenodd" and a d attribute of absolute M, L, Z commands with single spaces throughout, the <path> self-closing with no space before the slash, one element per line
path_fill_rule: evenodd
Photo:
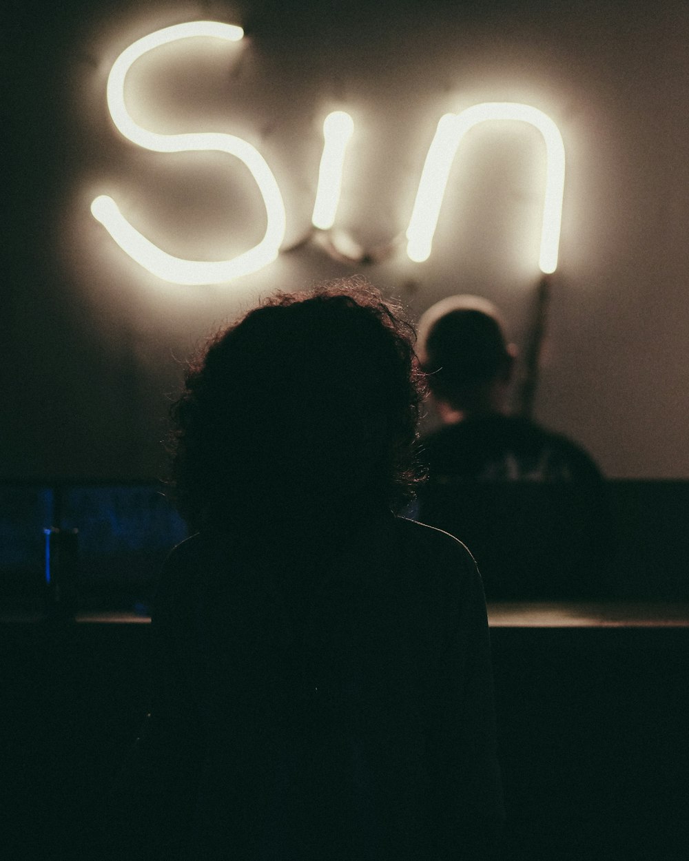
<path fill-rule="evenodd" d="M 555 272 L 562 222 L 562 193 L 565 181 L 565 148 L 556 124 L 537 108 L 517 102 L 483 102 L 440 118 L 425 158 L 424 170 L 407 227 L 407 255 L 422 263 L 431 255 L 433 234 L 443 203 L 445 186 L 457 148 L 470 128 L 488 120 L 528 122 L 543 134 L 546 149 L 545 200 L 538 266 L 543 273 Z"/>

